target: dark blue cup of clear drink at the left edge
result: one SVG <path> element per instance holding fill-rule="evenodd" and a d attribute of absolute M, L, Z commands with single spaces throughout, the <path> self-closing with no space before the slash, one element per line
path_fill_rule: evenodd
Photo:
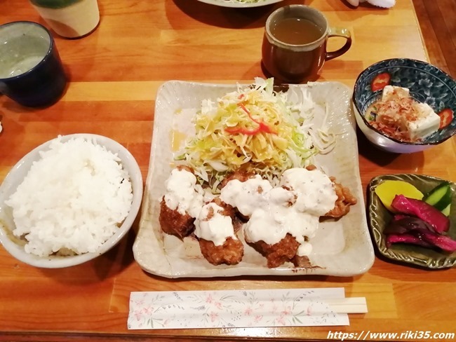
<path fill-rule="evenodd" d="M 47 107 L 65 92 L 67 76 L 49 30 L 37 22 L 0 25 L 0 90 L 25 107 Z"/>

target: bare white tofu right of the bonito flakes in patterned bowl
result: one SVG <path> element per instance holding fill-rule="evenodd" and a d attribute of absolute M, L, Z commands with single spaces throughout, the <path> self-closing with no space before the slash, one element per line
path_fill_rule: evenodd
<path fill-rule="evenodd" d="M 408 121 L 407 127 L 412 139 L 424 139 L 438 130 L 440 125 L 440 116 L 427 103 L 415 104 L 417 118 L 414 121 Z"/>

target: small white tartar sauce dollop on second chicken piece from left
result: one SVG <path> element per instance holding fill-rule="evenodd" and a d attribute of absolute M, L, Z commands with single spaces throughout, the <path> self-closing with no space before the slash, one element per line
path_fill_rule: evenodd
<path fill-rule="evenodd" d="M 215 203 L 208 203 L 201 208 L 195 220 L 195 235 L 221 246 L 227 238 L 237 240 L 234 234 L 232 218 L 222 214 L 223 208 Z"/>

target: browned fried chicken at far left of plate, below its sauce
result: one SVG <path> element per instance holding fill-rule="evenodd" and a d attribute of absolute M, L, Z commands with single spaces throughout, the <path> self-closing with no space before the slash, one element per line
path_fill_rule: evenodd
<path fill-rule="evenodd" d="M 160 202 L 159 222 L 161 229 L 165 233 L 185 238 L 194 230 L 194 221 L 194 217 L 189 214 L 182 215 L 177 210 L 170 209 L 166 205 L 165 197 L 163 196 Z"/>

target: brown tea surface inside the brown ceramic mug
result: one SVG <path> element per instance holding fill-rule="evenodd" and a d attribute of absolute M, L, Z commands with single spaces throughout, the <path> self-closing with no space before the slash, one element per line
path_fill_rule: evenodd
<path fill-rule="evenodd" d="M 293 45 L 312 43 L 323 36 L 323 29 L 304 18 L 283 18 L 271 27 L 271 34 L 279 41 Z"/>

